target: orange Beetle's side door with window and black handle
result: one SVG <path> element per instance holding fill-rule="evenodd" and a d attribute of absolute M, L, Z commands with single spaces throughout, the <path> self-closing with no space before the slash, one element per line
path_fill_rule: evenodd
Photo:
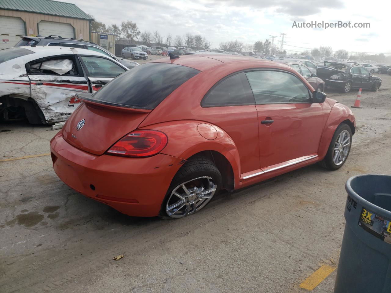
<path fill-rule="evenodd" d="M 246 76 L 258 113 L 262 170 L 316 157 L 325 119 L 307 86 L 287 71 L 256 70 Z"/>

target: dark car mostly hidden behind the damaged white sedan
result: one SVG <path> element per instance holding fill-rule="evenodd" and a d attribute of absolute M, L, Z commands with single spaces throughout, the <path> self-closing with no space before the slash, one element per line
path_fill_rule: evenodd
<path fill-rule="evenodd" d="M 88 50 L 102 53 L 108 57 L 113 58 L 114 60 L 118 61 L 119 63 L 121 63 L 122 65 L 126 66 L 129 69 L 140 65 L 137 62 L 126 60 L 124 58 L 118 58 L 115 55 L 113 55 L 111 52 L 106 50 L 105 48 L 102 48 L 101 46 L 95 43 L 84 41 L 83 39 L 77 39 L 77 38 L 66 39 L 66 38 L 61 38 L 61 36 L 48 36 L 48 37 L 25 36 L 21 38 L 22 39 L 14 47 L 61 46 L 61 47 L 81 48 L 81 49 L 88 49 Z"/>

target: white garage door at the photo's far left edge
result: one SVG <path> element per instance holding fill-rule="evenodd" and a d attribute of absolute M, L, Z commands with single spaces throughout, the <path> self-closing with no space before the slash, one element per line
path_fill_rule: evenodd
<path fill-rule="evenodd" d="M 25 25 L 21 18 L 0 16 L 0 49 L 13 47 L 25 34 Z"/>

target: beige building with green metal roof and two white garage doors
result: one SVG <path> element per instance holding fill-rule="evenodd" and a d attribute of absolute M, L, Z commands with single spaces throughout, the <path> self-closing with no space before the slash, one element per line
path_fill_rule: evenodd
<path fill-rule="evenodd" d="M 0 49 L 21 36 L 61 36 L 90 41 L 91 19 L 75 4 L 50 0 L 0 1 Z"/>

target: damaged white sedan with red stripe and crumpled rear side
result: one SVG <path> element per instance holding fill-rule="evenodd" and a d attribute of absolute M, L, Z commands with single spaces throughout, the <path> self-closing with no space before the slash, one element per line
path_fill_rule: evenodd
<path fill-rule="evenodd" d="M 94 93 L 127 70 L 112 58 L 86 49 L 0 50 L 0 120 L 65 121 L 81 103 L 76 94 Z"/>

